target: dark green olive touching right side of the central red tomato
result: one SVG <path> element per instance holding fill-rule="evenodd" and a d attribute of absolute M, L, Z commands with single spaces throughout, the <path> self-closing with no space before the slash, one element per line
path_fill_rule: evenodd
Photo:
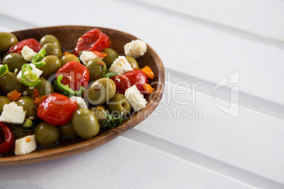
<path fill-rule="evenodd" d="M 102 78 L 102 75 L 104 75 L 105 70 L 107 70 L 107 65 L 105 65 L 104 61 L 101 61 L 100 59 L 94 59 L 92 61 L 89 61 L 87 66 L 90 71 L 90 81 L 98 80 Z"/>

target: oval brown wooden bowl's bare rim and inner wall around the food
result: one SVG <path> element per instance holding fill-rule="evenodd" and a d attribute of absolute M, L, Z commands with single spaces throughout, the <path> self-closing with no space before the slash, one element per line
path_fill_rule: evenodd
<path fill-rule="evenodd" d="M 13 32 L 13 34 L 18 37 L 19 41 L 28 38 L 34 38 L 39 41 L 42 36 L 51 34 L 59 39 L 62 52 L 69 51 L 70 53 L 73 53 L 77 39 L 85 32 L 93 28 L 97 28 L 109 36 L 112 49 L 117 51 L 120 55 L 124 55 L 124 44 L 131 42 L 133 39 L 138 39 L 133 35 L 118 30 L 78 25 L 34 28 L 30 30 L 16 31 Z M 162 92 L 165 85 L 165 70 L 164 66 L 162 65 L 162 61 L 160 60 L 158 54 L 156 54 L 149 45 L 147 45 L 147 48 L 146 54 L 137 59 L 141 68 L 144 66 L 150 66 L 155 73 L 155 78 L 150 80 L 150 83 L 155 90 L 150 97 L 146 97 L 148 104 L 146 105 L 145 109 L 135 113 L 132 118 L 127 119 L 121 126 L 102 131 L 90 140 L 83 140 L 80 138 L 76 138 L 74 140 L 63 140 L 59 143 L 59 145 L 49 147 L 45 150 L 36 150 L 35 152 L 23 156 L 0 157 L 0 166 L 32 164 L 81 154 L 83 152 L 87 152 L 88 150 L 93 150 L 94 148 L 99 147 L 100 145 L 103 145 L 114 138 L 117 138 L 119 135 L 122 135 L 122 133 L 134 128 L 134 126 L 137 126 L 144 119 L 146 119 L 158 106 L 162 98 Z"/>

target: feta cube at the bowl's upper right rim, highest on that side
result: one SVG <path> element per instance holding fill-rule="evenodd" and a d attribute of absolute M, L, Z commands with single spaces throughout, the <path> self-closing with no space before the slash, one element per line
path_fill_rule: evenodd
<path fill-rule="evenodd" d="M 147 51 L 146 42 L 141 41 L 140 39 L 132 40 L 129 43 L 124 45 L 124 52 L 126 56 L 132 56 L 138 58 L 143 56 Z"/>

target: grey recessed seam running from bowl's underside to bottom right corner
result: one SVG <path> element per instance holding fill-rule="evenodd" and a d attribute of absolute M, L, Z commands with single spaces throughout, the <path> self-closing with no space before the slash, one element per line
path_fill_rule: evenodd
<path fill-rule="evenodd" d="M 212 157 L 200 154 L 194 150 L 189 150 L 186 147 L 174 144 L 168 140 L 156 138 L 155 136 L 144 133 L 136 128 L 129 130 L 127 133 L 119 136 L 119 138 L 138 143 L 138 145 L 143 145 L 153 150 L 158 150 L 159 152 L 167 154 L 170 157 L 182 160 L 187 164 L 194 164 L 195 166 L 199 166 L 201 169 L 206 169 L 207 171 L 217 173 L 220 176 L 230 178 L 231 180 L 237 181 L 244 185 L 249 185 L 256 188 L 259 188 L 260 186 L 265 188 L 284 187 L 282 183 L 278 183 L 277 181 L 273 181 L 269 178 L 265 178 L 244 169 L 240 169 L 239 167 L 227 164 L 218 159 L 213 159 Z"/>

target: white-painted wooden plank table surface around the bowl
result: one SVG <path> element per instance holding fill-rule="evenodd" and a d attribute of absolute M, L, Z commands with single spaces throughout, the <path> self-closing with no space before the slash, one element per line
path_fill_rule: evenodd
<path fill-rule="evenodd" d="M 0 1 L 1 31 L 51 25 L 145 40 L 165 94 L 95 150 L 1 167 L 0 188 L 284 188 L 284 1 Z"/>

